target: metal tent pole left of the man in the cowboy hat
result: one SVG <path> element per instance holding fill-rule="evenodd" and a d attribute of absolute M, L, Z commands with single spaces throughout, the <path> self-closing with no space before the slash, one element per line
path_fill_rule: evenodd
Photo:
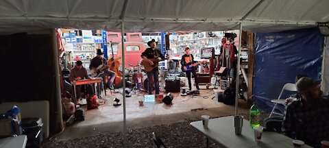
<path fill-rule="evenodd" d="M 121 22 L 121 45 L 122 45 L 122 95 L 123 95 L 123 147 L 127 147 L 127 140 L 125 136 L 126 121 L 125 121 L 125 34 L 123 34 L 123 21 Z"/>

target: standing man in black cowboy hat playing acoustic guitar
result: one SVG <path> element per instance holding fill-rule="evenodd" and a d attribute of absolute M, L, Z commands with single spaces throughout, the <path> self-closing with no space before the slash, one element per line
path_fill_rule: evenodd
<path fill-rule="evenodd" d="M 155 65 L 151 71 L 147 71 L 147 81 L 148 81 L 148 92 L 149 95 L 152 94 L 152 77 L 154 77 L 154 86 L 156 88 L 156 95 L 159 95 L 160 89 L 159 89 L 159 70 L 158 70 L 158 58 L 161 60 L 164 60 L 164 56 L 162 55 L 161 51 L 159 49 L 156 49 L 156 40 L 152 39 L 151 41 L 147 42 L 147 45 L 149 45 L 149 48 L 145 49 L 145 51 L 142 53 L 141 57 L 143 61 L 148 62 L 150 65 Z M 156 60 L 152 62 L 152 60 Z"/>

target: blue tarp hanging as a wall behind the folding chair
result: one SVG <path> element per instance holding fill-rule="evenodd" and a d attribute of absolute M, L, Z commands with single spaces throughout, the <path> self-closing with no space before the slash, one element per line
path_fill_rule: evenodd
<path fill-rule="evenodd" d="M 271 99 L 278 99 L 284 84 L 295 83 L 296 75 L 321 77 L 324 36 L 317 27 L 257 33 L 254 40 L 254 103 L 261 110 L 271 112 Z M 285 97 L 289 94 L 282 96 Z"/>

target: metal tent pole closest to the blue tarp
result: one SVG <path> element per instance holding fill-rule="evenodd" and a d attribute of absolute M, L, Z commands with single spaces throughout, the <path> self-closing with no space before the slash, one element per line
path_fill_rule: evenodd
<path fill-rule="evenodd" d="M 236 83 L 235 83 L 235 115 L 238 115 L 238 97 L 239 97 L 239 71 L 240 71 L 240 51 L 241 51 L 242 23 L 240 23 L 238 62 L 236 65 Z"/>

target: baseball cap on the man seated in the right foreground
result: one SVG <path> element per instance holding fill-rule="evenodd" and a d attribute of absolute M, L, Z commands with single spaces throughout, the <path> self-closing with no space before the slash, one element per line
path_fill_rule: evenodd
<path fill-rule="evenodd" d="M 295 86 L 297 88 L 297 92 L 300 93 L 304 90 L 308 90 L 308 88 L 319 85 L 320 82 L 321 82 L 321 79 L 312 79 L 310 77 L 302 77 L 296 82 Z"/>

